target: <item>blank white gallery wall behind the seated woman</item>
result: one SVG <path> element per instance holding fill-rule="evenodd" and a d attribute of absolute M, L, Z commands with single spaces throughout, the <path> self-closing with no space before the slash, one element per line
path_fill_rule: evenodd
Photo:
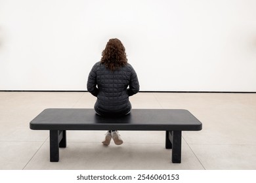
<path fill-rule="evenodd" d="M 256 92 L 255 0 L 0 0 L 0 90 L 86 90 L 115 37 L 142 91 Z"/>

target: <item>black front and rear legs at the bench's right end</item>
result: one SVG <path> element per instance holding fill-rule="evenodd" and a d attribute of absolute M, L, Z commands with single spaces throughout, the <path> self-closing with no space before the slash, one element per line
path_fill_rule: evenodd
<path fill-rule="evenodd" d="M 171 161 L 181 163 L 181 131 L 166 131 L 165 148 L 172 148 Z"/>

